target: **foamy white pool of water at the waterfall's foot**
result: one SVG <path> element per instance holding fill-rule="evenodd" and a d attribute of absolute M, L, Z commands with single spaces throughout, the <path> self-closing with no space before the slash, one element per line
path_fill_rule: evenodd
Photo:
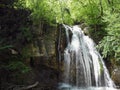
<path fill-rule="evenodd" d="M 69 84 L 60 83 L 59 90 L 120 90 L 120 89 L 115 89 L 111 87 L 86 87 L 86 88 L 79 87 L 78 88 L 76 86 L 71 86 Z"/>

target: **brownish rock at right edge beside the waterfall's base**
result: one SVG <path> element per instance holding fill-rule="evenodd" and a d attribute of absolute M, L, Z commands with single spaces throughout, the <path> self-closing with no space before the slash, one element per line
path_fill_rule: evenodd
<path fill-rule="evenodd" d="M 112 79 L 115 82 L 116 86 L 120 88 L 120 67 L 117 67 L 113 70 Z"/>

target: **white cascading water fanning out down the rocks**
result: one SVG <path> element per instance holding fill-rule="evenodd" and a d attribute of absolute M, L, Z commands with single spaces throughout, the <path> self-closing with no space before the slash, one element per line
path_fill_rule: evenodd
<path fill-rule="evenodd" d="M 67 36 L 67 47 L 64 50 L 64 83 L 77 87 L 114 87 L 93 40 L 85 36 L 77 25 L 64 27 Z M 71 38 L 69 32 L 72 32 Z"/>

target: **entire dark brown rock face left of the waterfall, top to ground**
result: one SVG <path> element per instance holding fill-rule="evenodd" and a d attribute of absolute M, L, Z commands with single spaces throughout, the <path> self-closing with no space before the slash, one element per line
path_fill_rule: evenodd
<path fill-rule="evenodd" d="M 25 77 L 25 81 L 27 85 L 31 85 L 36 81 L 39 82 L 39 85 L 33 90 L 46 90 L 47 88 L 51 90 L 49 88 L 55 88 L 59 79 L 55 53 L 56 27 L 46 25 L 43 29 L 40 26 L 35 30 L 37 37 L 31 45 L 32 53 L 31 58 L 28 60 L 32 72 Z"/>

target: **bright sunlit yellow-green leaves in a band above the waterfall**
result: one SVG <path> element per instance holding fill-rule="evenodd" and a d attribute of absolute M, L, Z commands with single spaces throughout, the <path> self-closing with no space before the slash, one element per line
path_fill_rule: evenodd
<path fill-rule="evenodd" d="M 36 20 L 72 24 L 85 20 L 98 23 L 99 0 L 26 0 L 26 5 Z M 98 21 L 96 21 L 98 20 Z"/>

